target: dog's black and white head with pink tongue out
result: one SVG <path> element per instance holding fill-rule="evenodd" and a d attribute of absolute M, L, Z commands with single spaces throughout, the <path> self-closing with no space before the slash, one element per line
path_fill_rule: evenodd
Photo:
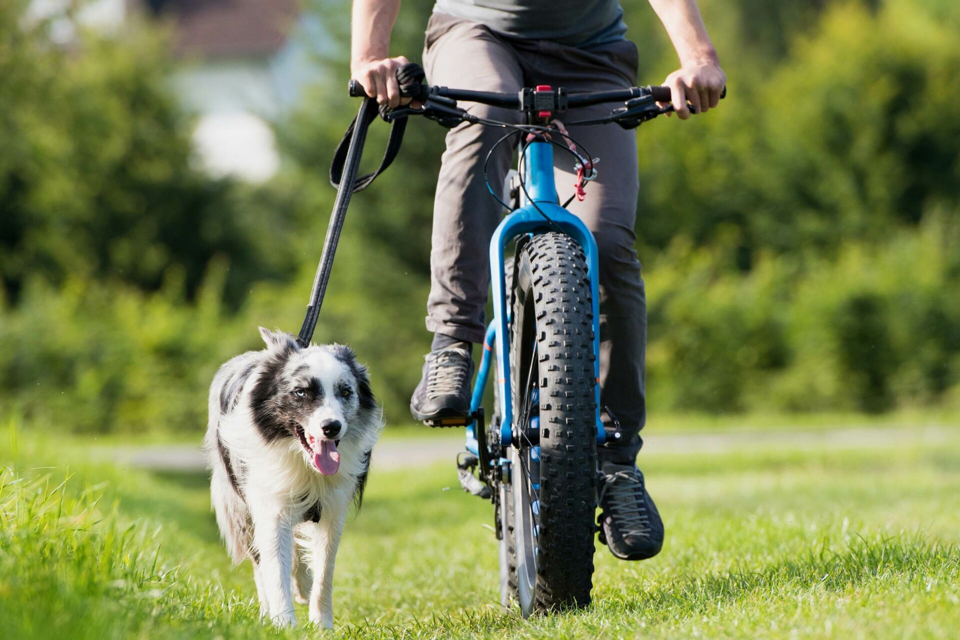
<path fill-rule="evenodd" d="M 343 344 L 301 348 L 294 336 L 260 327 L 268 358 L 252 391 L 253 420 L 267 442 L 297 439 L 318 471 L 340 468 L 341 440 L 362 442 L 378 422 L 367 368 Z"/>

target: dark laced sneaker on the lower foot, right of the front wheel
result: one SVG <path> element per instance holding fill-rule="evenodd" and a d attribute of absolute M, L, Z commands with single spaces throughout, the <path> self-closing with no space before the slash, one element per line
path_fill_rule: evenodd
<path fill-rule="evenodd" d="M 633 464 L 601 466 L 600 541 L 621 560 L 645 560 L 660 553 L 663 521 Z"/>

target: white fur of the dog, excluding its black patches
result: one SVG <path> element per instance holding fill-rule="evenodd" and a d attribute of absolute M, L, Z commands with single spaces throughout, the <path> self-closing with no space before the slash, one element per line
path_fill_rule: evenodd
<path fill-rule="evenodd" d="M 210 388 L 209 421 L 204 449 L 211 473 L 210 495 L 221 535 L 235 562 L 259 554 L 254 580 L 260 612 L 281 627 L 295 624 L 294 598 L 309 604 L 310 622 L 333 627 L 333 567 L 349 503 L 358 478 L 367 470 L 368 453 L 383 429 L 380 411 L 360 411 L 334 398 L 335 386 L 352 372 L 329 347 L 310 345 L 291 357 L 282 375 L 306 366 L 320 380 L 326 400 L 301 424 L 322 439 L 321 424 L 339 420 L 340 468 L 324 476 L 297 438 L 267 444 L 252 412 L 252 391 L 268 358 L 292 337 L 261 330 L 268 348 L 248 352 L 221 367 Z M 225 386 L 240 371 L 250 375 L 238 390 L 234 406 L 224 411 Z M 356 405 L 356 402 L 353 403 Z M 217 439 L 228 452 L 240 488 L 231 485 Z M 321 506 L 319 523 L 302 521 Z M 296 581 L 296 584 L 295 584 Z"/>

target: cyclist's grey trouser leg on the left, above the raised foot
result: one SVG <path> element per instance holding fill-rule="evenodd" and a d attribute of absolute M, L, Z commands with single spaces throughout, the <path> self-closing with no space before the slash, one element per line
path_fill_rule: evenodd
<path fill-rule="evenodd" d="M 442 23 L 435 14 L 427 32 L 424 65 L 431 84 L 513 92 L 522 86 L 516 53 L 485 27 Z M 471 113 L 519 122 L 516 111 L 463 103 Z M 484 159 L 503 135 L 500 129 L 460 125 L 446 134 L 446 151 L 434 201 L 427 329 L 458 340 L 482 343 L 484 305 L 490 286 L 490 240 L 504 213 L 484 180 Z M 499 193 L 510 168 L 512 147 L 492 155 L 487 176 Z"/>

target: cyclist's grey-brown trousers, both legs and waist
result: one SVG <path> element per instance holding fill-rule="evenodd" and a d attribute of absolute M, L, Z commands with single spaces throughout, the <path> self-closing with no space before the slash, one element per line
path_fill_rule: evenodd
<path fill-rule="evenodd" d="M 434 13 L 423 53 L 427 81 L 456 88 L 515 92 L 549 84 L 569 92 L 599 91 L 636 84 L 636 46 L 621 40 L 590 50 L 547 40 L 522 40 L 492 32 L 482 24 Z M 464 103 L 471 113 L 503 122 L 522 115 L 498 107 Z M 615 105 L 575 109 L 561 116 L 573 121 L 600 117 Z M 629 463 L 642 444 L 646 420 L 644 350 L 646 297 L 636 258 L 634 223 L 639 189 L 636 136 L 617 125 L 568 128 L 590 154 L 600 157 L 598 178 L 585 201 L 569 210 L 593 232 L 600 257 L 600 386 L 604 425 L 612 432 L 610 409 L 621 438 L 600 447 L 602 462 Z M 490 286 L 490 241 L 504 213 L 484 182 L 483 163 L 504 130 L 460 125 L 446 134 L 446 151 L 437 184 L 430 252 L 427 329 L 471 343 L 484 339 L 484 306 Z M 500 189 L 513 149 L 503 144 L 491 157 L 488 176 Z M 573 193 L 574 159 L 556 150 L 561 201 Z"/>

